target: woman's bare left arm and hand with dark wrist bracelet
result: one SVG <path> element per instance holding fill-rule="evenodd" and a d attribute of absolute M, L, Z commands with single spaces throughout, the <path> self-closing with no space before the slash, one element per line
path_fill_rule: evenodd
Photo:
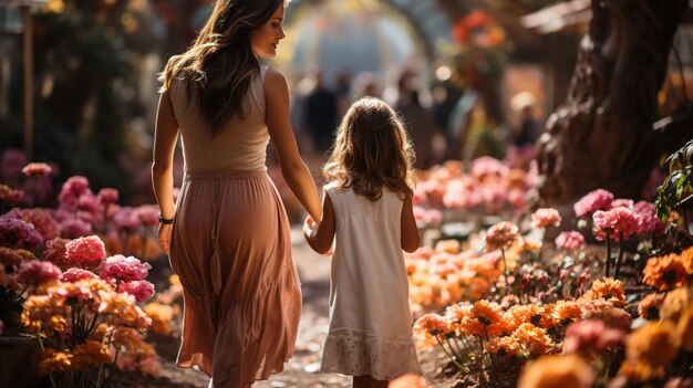
<path fill-rule="evenodd" d="M 175 216 L 173 200 L 173 159 L 178 138 L 178 123 L 174 115 L 168 91 L 162 93 L 156 112 L 154 129 L 154 162 L 152 164 L 152 186 L 163 218 Z M 170 224 L 161 224 L 158 244 L 168 254 L 170 243 Z"/>

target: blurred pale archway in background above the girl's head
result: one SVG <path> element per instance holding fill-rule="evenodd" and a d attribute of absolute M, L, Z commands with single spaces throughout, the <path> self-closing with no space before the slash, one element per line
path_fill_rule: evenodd
<path fill-rule="evenodd" d="M 294 81 L 320 70 L 329 86 L 344 71 L 372 73 L 384 93 L 404 69 L 426 82 L 452 41 L 449 17 L 436 0 L 292 0 L 286 19 L 276 64 Z"/>

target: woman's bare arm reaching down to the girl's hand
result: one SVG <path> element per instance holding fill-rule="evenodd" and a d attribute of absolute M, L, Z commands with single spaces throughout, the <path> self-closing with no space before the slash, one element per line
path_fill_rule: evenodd
<path fill-rule="evenodd" d="M 308 167 L 299 155 L 289 115 L 289 87 L 283 75 L 269 69 L 265 75 L 266 123 L 281 166 L 281 175 L 299 202 L 314 220 L 322 218 L 320 197 Z"/>

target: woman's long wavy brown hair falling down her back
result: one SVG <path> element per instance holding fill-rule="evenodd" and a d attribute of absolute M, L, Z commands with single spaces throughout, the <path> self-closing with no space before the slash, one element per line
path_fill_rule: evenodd
<path fill-rule="evenodd" d="M 187 95 L 196 96 L 213 137 L 229 119 L 247 116 L 245 96 L 260 66 L 250 46 L 250 32 L 282 4 L 285 0 L 217 0 L 193 45 L 168 60 L 162 90 L 169 88 L 174 78 L 184 78 Z"/>

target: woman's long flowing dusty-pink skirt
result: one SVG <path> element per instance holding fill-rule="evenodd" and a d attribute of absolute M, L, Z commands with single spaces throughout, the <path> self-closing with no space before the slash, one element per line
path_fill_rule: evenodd
<path fill-rule="evenodd" d="M 265 170 L 187 174 L 170 264 L 184 290 L 179 367 L 197 365 L 215 388 L 283 369 L 301 290 L 287 213 Z"/>

